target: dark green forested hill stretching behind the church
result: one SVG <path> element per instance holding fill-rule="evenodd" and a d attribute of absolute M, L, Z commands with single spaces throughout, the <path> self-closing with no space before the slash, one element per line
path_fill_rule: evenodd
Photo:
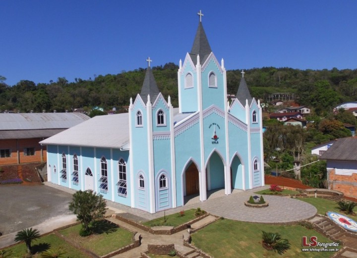
<path fill-rule="evenodd" d="M 178 106 L 178 65 L 167 63 L 153 67 L 159 90 L 167 98 L 171 96 Z M 129 104 L 129 99 L 140 93 L 146 69 L 121 72 L 116 75 L 96 76 L 93 80 L 75 78 L 69 83 L 64 77 L 56 82 L 35 84 L 23 80 L 16 85 L 6 85 L 0 76 L 0 111 L 52 112 L 93 106 L 112 109 Z M 244 70 L 244 78 L 253 97 L 266 102 L 272 93 L 291 93 L 297 103 L 308 105 L 317 113 L 330 111 L 334 105 L 345 101 L 357 101 L 357 69 L 299 70 L 293 68 L 263 67 Z M 240 70 L 227 71 L 228 94 L 236 94 L 240 82 Z"/>

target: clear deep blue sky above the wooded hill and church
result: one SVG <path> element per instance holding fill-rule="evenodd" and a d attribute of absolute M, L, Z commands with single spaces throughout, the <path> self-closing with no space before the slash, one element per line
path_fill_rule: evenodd
<path fill-rule="evenodd" d="M 357 68 L 355 0 L 1 0 L 0 75 L 12 86 L 93 79 L 191 50 L 202 10 L 225 67 Z"/>

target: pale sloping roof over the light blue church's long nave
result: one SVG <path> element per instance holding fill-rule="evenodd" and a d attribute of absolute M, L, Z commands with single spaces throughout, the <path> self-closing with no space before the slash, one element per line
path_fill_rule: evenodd
<path fill-rule="evenodd" d="M 128 142 L 129 116 L 121 113 L 95 116 L 40 143 L 119 149 Z"/>

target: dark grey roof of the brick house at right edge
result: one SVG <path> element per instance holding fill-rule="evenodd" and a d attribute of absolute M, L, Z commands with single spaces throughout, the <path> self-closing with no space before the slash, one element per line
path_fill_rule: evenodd
<path fill-rule="evenodd" d="M 337 139 L 320 159 L 357 161 L 357 137 Z"/>

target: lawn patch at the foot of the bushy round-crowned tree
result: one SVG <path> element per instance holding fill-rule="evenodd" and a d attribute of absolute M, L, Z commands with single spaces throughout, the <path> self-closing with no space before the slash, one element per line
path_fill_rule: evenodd
<path fill-rule="evenodd" d="M 119 228 L 108 220 L 96 221 L 93 224 L 94 234 L 87 237 L 79 236 L 81 227 L 81 224 L 75 225 L 60 230 L 60 234 L 99 256 L 109 254 L 132 243 L 132 232 Z"/>

